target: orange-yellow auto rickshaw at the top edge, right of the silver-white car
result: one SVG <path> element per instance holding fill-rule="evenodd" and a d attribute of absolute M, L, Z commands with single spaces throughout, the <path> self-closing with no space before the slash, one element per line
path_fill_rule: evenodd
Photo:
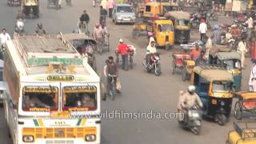
<path fill-rule="evenodd" d="M 144 6 L 143 16 L 151 17 L 154 14 L 163 16 L 173 10 L 180 10 L 178 2 L 148 2 Z"/>

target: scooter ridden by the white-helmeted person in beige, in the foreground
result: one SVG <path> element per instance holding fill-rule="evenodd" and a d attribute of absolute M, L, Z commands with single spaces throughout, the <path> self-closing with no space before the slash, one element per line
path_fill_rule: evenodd
<path fill-rule="evenodd" d="M 182 128 L 191 130 L 194 134 L 200 134 L 202 126 L 202 114 L 198 109 L 198 106 L 193 106 L 192 109 L 186 110 L 184 118 L 178 120 L 178 123 Z"/>

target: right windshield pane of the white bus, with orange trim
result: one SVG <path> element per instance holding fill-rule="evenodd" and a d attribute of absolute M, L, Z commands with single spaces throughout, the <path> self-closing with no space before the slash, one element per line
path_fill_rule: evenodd
<path fill-rule="evenodd" d="M 63 88 L 63 110 L 96 110 L 97 89 L 95 86 L 65 86 Z"/>

